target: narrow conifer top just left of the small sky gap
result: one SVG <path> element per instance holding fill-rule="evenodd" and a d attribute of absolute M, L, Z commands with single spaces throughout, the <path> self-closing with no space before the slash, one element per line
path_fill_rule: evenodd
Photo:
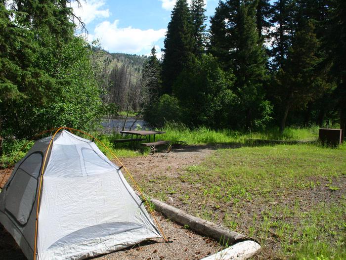
<path fill-rule="evenodd" d="M 191 2 L 191 16 L 193 22 L 193 37 L 195 46 L 193 53 L 196 57 L 201 57 L 205 50 L 205 21 L 207 16 L 204 14 L 205 9 L 204 0 L 192 0 Z"/>

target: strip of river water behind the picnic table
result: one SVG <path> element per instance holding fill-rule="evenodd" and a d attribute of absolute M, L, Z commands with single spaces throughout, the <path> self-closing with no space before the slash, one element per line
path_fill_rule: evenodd
<path fill-rule="evenodd" d="M 133 122 L 135 121 L 135 118 L 128 118 L 128 121 L 126 122 L 125 125 L 125 130 L 130 130 L 130 127 L 132 126 Z M 123 128 L 125 122 L 125 118 L 118 118 L 118 119 L 110 119 L 110 121 L 108 122 L 108 119 L 105 118 L 102 120 L 102 127 L 103 130 L 105 132 L 120 132 Z M 147 122 L 145 122 L 144 120 L 137 120 L 136 123 L 134 123 L 133 127 L 131 128 L 131 130 L 134 130 L 136 128 L 136 125 L 139 125 L 142 127 L 142 130 L 152 130 L 152 128 L 149 126 L 149 124 Z"/>

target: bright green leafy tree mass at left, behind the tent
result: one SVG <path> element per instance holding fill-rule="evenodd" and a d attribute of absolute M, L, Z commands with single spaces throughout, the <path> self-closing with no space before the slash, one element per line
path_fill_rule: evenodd
<path fill-rule="evenodd" d="M 67 20 L 71 9 L 60 1 L 18 1 L 17 7 L 0 3 L 0 135 L 91 128 L 103 109 L 97 69 L 90 46 Z"/>

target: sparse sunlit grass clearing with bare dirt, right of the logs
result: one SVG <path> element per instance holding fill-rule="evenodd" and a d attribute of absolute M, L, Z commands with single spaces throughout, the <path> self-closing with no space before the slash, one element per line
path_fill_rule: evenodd
<path fill-rule="evenodd" d="M 219 149 L 178 177 L 140 185 L 151 196 L 254 237 L 260 259 L 346 259 L 346 146 Z"/>

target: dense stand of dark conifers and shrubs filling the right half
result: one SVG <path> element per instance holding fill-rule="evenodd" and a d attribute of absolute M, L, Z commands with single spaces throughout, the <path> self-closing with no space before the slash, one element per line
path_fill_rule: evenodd
<path fill-rule="evenodd" d="M 219 1 L 209 30 L 204 11 L 176 2 L 162 64 L 151 61 L 163 94 L 153 114 L 216 129 L 345 127 L 345 1 Z"/>

